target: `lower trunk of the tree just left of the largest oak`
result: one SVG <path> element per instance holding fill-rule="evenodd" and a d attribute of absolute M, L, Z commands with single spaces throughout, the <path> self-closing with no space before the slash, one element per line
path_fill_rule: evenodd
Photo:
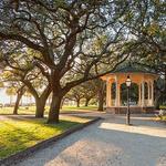
<path fill-rule="evenodd" d="M 45 104 L 46 104 L 46 97 L 35 98 L 35 117 L 38 118 L 44 117 Z"/>

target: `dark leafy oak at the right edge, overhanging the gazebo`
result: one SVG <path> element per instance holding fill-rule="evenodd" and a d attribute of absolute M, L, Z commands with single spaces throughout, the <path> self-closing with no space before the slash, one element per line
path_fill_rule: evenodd
<path fill-rule="evenodd" d="M 139 0 L 133 2 L 124 21 L 139 46 L 134 51 L 135 61 L 153 69 L 163 82 L 156 84 L 156 106 L 166 98 L 166 2 Z"/>

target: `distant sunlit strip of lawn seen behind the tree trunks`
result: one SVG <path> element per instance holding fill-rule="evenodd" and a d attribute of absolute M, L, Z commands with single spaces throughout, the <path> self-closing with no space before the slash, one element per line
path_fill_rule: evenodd
<path fill-rule="evenodd" d="M 71 112 L 71 111 L 92 111 L 92 110 L 96 110 L 96 106 L 81 106 L 81 107 L 76 107 L 76 106 L 63 106 L 61 112 Z M 0 114 L 12 114 L 13 107 L 2 107 L 0 108 Z M 19 114 L 34 114 L 35 112 L 35 106 L 29 106 L 28 110 L 23 106 L 20 106 L 18 113 Z M 49 106 L 45 107 L 45 114 L 48 114 L 49 112 Z"/>

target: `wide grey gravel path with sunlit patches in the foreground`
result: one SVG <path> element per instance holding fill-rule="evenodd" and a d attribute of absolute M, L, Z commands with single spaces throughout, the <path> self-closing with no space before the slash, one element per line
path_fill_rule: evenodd
<path fill-rule="evenodd" d="M 18 166 L 166 166 L 166 125 L 152 117 L 107 115 Z"/>

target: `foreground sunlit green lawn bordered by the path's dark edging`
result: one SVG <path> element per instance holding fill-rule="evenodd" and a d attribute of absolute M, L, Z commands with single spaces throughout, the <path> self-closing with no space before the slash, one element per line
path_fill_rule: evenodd
<path fill-rule="evenodd" d="M 64 116 L 61 118 L 60 124 L 46 124 L 45 121 L 3 116 L 0 120 L 0 158 L 10 156 L 43 139 L 59 135 L 89 120 Z"/>

